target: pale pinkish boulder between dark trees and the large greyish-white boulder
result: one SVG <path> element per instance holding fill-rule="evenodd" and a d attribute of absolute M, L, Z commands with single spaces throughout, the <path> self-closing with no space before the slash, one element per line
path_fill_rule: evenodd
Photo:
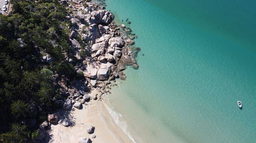
<path fill-rule="evenodd" d="M 83 71 L 84 76 L 96 79 L 99 67 L 100 62 L 87 62 L 86 70 Z"/>

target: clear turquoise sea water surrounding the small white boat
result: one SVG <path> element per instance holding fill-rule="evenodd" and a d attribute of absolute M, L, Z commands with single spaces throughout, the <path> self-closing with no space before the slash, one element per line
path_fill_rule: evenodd
<path fill-rule="evenodd" d="M 136 142 L 256 142 L 256 1 L 105 3 L 142 49 L 109 96 Z"/>

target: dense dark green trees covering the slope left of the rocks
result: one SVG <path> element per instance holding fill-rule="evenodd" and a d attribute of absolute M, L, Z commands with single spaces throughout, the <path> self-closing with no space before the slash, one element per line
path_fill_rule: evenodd
<path fill-rule="evenodd" d="M 0 142 L 33 142 L 38 124 L 58 106 L 54 72 L 75 76 L 63 53 L 72 56 L 70 22 L 57 0 L 12 0 L 12 14 L 0 15 Z M 22 40 L 17 40 L 21 38 Z M 50 54 L 54 62 L 42 63 Z"/>

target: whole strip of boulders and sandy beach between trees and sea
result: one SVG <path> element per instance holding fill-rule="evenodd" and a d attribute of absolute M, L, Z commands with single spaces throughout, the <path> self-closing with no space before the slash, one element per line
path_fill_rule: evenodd
<path fill-rule="evenodd" d="M 111 88 L 117 86 L 116 79 L 125 80 L 126 66 L 138 69 L 135 58 L 140 48 L 132 46 L 137 36 L 129 28 L 130 21 L 126 25 L 117 23 L 111 11 L 94 1 L 61 3 L 67 5 L 69 11 L 66 18 L 72 23 L 70 42 L 77 59 L 67 57 L 66 60 L 76 65 L 76 72 L 83 73 L 84 79 L 71 85 L 67 85 L 64 78 L 61 80 L 61 87 L 70 96 L 63 109 L 50 115 L 57 116 L 58 124 L 56 120 L 50 125 L 49 142 L 136 143 L 127 127 L 118 124 L 113 115 L 115 111 L 104 101 L 108 100 L 106 94 L 111 94 Z M 94 130 L 92 134 L 88 132 L 90 126 Z"/>

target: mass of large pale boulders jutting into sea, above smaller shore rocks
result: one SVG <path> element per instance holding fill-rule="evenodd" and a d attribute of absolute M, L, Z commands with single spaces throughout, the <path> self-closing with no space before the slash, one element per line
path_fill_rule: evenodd
<path fill-rule="evenodd" d="M 115 78 L 125 79 L 122 70 L 126 65 L 138 69 L 136 52 L 130 45 L 135 42 L 130 39 L 132 34 L 130 28 L 124 24 L 118 26 L 113 20 L 114 15 L 110 11 L 102 10 L 92 2 L 75 1 L 76 5 L 69 4 L 69 8 L 76 9 L 68 18 L 71 20 L 70 41 L 74 47 L 74 55 L 77 60 L 82 60 L 77 72 L 83 72 L 86 80 L 92 87 L 104 88 L 104 81 Z M 83 7 L 86 4 L 88 7 Z M 77 8 L 77 5 L 80 5 Z M 121 29 L 124 33 L 121 32 Z M 77 37 L 88 41 L 83 43 L 85 49 L 81 49 L 81 43 Z M 81 52 L 86 52 L 83 57 Z M 73 60 L 67 57 L 70 63 Z M 104 83 L 103 83 L 104 82 Z"/>

